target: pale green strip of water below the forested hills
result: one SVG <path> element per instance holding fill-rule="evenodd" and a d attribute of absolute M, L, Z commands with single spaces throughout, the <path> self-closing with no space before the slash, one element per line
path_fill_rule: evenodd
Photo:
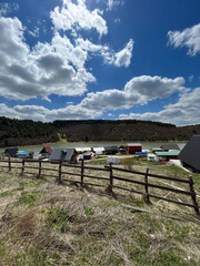
<path fill-rule="evenodd" d="M 52 143 L 48 144 L 52 149 L 57 147 L 93 147 L 93 146 L 112 146 L 112 145 L 127 145 L 127 143 L 136 143 L 134 141 L 129 142 L 68 142 L 68 143 Z M 142 150 L 149 150 L 150 147 L 160 147 L 161 144 L 178 144 L 180 150 L 186 145 L 187 142 L 140 142 L 142 145 Z M 41 145 L 31 145 L 31 146 L 18 146 L 20 151 L 28 151 L 28 152 L 40 152 L 41 149 L 47 144 Z M 3 147 L 0 149 L 0 153 L 4 151 Z"/>

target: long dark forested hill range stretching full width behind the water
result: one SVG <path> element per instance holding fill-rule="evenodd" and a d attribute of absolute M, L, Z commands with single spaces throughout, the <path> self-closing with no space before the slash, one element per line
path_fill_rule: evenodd
<path fill-rule="evenodd" d="M 58 134 L 60 133 L 60 134 Z M 188 141 L 200 134 L 200 125 L 172 124 L 137 120 L 81 120 L 52 123 L 0 116 L 0 146 L 33 145 L 58 142 L 59 135 L 78 141 Z"/>

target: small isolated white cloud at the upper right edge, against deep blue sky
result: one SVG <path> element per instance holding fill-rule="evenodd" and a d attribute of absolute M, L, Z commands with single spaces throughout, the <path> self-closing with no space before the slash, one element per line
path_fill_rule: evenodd
<path fill-rule="evenodd" d="M 196 55 L 200 52 L 200 23 L 183 31 L 169 31 L 169 44 L 178 47 L 187 47 L 189 55 Z"/>

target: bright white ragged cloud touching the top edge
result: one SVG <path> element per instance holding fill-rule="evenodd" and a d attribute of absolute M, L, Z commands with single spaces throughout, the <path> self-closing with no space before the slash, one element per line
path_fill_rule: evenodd
<path fill-rule="evenodd" d="M 77 4 L 71 0 L 63 0 L 62 8 L 56 7 L 50 12 L 56 30 L 96 29 L 100 37 L 108 33 L 107 22 L 101 16 L 102 11 L 99 9 L 88 10 L 84 0 L 78 0 Z"/>

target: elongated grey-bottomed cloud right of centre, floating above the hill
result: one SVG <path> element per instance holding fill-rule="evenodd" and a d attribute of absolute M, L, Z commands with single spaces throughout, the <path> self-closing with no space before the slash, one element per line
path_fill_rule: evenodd
<path fill-rule="evenodd" d="M 147 104 L 154 99 L 168 98 L 184 91 L 184 79 L 168 79 L 141 75 L 131 79 L 124 90 L 106 90 L 91 92 L 82 100 L 81 105 L 93 110 L 129 109 L 136 104 Z"/>

